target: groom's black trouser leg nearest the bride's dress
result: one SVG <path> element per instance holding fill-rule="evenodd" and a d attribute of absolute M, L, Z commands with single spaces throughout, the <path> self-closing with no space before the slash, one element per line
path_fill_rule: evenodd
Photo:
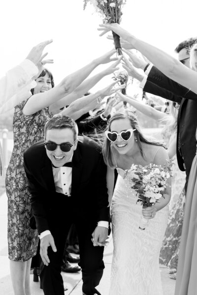
<path fill-rule="evenodd" d="M 93 246 L 91 241 L 92 233 L 94 232 L 97 223 L 87 222 L 83 220 L 76 224 L 78 239 L 80 263 L 82 268 L 83 286 L 82 291 L 86 295 L 99 294 L 96 286 L 99 285 L 103 274 L 103 250 L 104 247 Z"/>

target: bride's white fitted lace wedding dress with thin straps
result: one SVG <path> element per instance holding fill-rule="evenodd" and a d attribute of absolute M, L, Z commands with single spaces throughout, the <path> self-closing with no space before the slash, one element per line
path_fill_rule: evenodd
<path fill-rule="evenodd" d="M 168 206 L 158 211 L 144 231 L 139 230 L 142 207 L 136 204 L 134 190 L 128 188 L 124 170 L 118 178 L 112 198 L 114 252 L 110 295 L 163 295 L 159 255 Z"/>

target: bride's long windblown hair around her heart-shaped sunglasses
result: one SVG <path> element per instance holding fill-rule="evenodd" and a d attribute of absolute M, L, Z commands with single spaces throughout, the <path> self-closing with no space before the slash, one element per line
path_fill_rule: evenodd
<path fill-rule="evenodd" d="M 142 134 L 142 132 L 140 130 L 137 117 L 135 116 L 135 114 L 132 111 L 130 111 L 128 109 L 126 109 L 124 111 L 116 112 L 111 117 L 106 130 L 111 131 L 111 123 L 114 120 L 125 119 L 125 118 L 128 118 L 130 120 L 131 127 L 133 129 L 136 129 L 133 133 L 134 133 L 135 138 L 137 140 L 137 145 L 139 147 L 140 154 L 143 158 L 145 158 L 145 155 L 144 155 L 141 143 L 164 147 L 164 144 L 162 142 L 155 141 L 154 139 L 152 139 L 150 137 L 144 137 L 144 135 Z M 113 161 L 113 156 L 112 156 L 113 153 L 111 150 L 111 142 L 108 140 L 108 138 L 106 136 L 105 136 L 103 144 L 102 144 L 102 153 L 103 153 L 103 158 L 104 158 L 105 164 L 110 167 L 115 167 L 114 161 Z"/>

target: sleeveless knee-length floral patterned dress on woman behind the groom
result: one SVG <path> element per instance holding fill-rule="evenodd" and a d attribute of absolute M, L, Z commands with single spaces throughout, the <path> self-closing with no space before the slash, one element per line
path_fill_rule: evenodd
<path fill-rule="evenodd" d="M 15 107 L 14 148 L 5 178 L 8 197 L 8 254 L 10 260 L 20 262 L 36 255 L 38 244 L 37 231 L 30 228 L 32 209 L 23 153 L 44 138 L 44 125 L 50 117 L 48 108 L 25 116 L 23 108 L 27 100 Z"/>

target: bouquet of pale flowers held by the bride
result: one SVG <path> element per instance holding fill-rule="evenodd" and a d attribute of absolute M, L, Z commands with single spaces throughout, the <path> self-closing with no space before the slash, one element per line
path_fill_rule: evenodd
<path fill-rule="evenodd" d="M 128 186 L 134 189 L 137 196 L 136 203 L 140 202 L 142 206 L 150 207 L 159 203 L 161 198 L 165 198 L 165 188 L 167 187 L 167 179 L 171 177 L 171 163 L 164 167 L 149 164 L 145 167 L 141 165 L 131 165 L 125 178 Z M 141 218 L 139 225 L 140 230 L 145 230 L 149 219 Z"/>

